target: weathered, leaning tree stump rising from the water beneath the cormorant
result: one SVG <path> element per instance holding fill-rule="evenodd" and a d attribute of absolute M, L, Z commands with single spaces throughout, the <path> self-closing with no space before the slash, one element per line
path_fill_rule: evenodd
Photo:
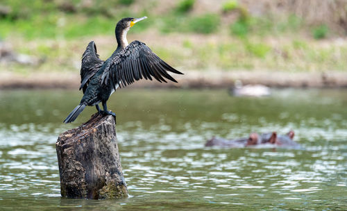
<path fill-rule="evenodd" d="M 73 199 L 118 199 L 128 196 L 121 170 L 115 118 L 92 115 L 58 137 L 61 195 Z"/>

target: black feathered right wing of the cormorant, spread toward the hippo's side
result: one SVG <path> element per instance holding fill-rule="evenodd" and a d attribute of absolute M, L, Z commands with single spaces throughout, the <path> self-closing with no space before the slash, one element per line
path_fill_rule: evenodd
<path fill-rule="evenodd" d="M 167 78 L 177 83 L 167 72 L 183 74 L 161 60 L 146 44 L 137 40 L 110 59 L 109 67 L 103 71 L 101 83 L 110 83 L 113 87 L 117 84 L 125 87 L 142 78 L 152 80 L 152 77 L 160 82 L 166 83 L 164 78 Z"/>

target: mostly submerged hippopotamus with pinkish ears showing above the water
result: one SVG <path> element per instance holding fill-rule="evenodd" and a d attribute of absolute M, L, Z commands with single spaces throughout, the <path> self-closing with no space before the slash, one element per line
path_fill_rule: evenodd
<path fill-rule="evenodd" d="M 251 133 L 249 137 L 242 137 L 235 140 L 226 140 L 219 137 L 212 137 L 206 142 L 205 146 L 223 146 L 229 148 L 243 148 L 248 146 L 269 146 L 269 147 L 287 147 L 300 148 L 300 145 L 293 141 L 294 131 L 290 130 L 286 135 L 277 135 L 273 133 Z M 266 144 L 266 145 L 265 145 Z"/>

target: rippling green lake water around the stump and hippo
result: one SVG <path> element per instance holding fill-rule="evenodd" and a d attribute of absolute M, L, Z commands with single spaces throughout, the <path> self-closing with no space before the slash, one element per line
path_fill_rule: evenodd
<path fill-rule="evenodd" d="M 347 90 L 119 90 L 108 108 L 129 197 L 60 196 L 56 140 L 75 90 L 0 91 L 0 210 L 347 210 Z M 206 148 L 206 140 L 293 129 L 294 149 Z"/>

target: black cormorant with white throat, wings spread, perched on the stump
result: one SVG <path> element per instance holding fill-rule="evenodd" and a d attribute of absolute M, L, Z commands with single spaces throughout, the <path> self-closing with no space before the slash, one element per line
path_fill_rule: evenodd
<path fill-rule="evenodd" d="M 95 105 L 98 112 L 103 115 L 116 117 L 114 112 L 108 110 L 106 102 L 120 86 L 126 87 L 140 79 L 152 81 L 152 78 L 165 83 L 167 81 L 164 78 L 167 78 L 177 83 L 167 72 L 183 73 L 161 60 L 143 42 L 135 40 L 128 44 L 126 40 L 130 27 L 146 18 L 126 17 L 117 23 L 115 34 L 118 47 L 105 61 L 96 53 L 94 42 L 88 44 L 81 65 L 80 90 L 83 89 L 84 95 L 81 103 L 64 120 L 65 124 L 74 121 L 87 105 Z M 103 110 L 99 108 L 99 103 L 102 103 Z"/>

